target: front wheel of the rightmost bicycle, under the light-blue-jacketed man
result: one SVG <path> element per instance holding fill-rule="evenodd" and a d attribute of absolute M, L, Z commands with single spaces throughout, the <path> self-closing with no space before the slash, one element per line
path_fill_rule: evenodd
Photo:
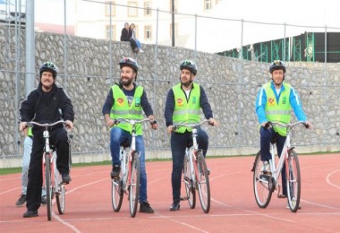
<path fill-rule="evenodd" d="M 288 205 L 292 212 L 296 212 L 300 205 L 301 174 L 297 153 L 293 150 L 288 152 L 286 160 L 287 194 Z"/>

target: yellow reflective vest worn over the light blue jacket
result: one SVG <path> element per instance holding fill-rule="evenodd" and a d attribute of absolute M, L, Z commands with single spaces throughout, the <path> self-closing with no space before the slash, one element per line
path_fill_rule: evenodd
<path fill-rule="evenodd" d="M 265 111 L 269 121 L 279 121 L 288 124 L 291 121 L 292 116 L 292 107 L 289 103 L 291 86 L 285 82 L 283 85 L 285 91 L 281 91 L 279 102 L 277 103 L 275 93 L 271 89 L 271 82 L 265 84 L 264 89 L 267 95 Z M 275 125 L 274 130 L 282 136 L 287 134 L 286 128 L 282 126 Z"/>

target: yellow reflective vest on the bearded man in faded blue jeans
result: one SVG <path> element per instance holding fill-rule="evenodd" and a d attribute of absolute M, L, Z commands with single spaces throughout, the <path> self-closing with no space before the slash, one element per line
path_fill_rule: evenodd
<path fill-rule="evenodd" d="M 129 106 L 128 99 L 126 98 L 124 92 L 119 88 L 118 85 L 112 86 L 112 93 L 115 99 L 115 103 L 112 106 L 111 111 L 110 111 L 110 117 L 112 119 L 116 119 L 120 117 L 120 118 L 140 120 L 143 118 L 142 108 L 141 108 L 141 103 L 140 103 L 140 98 L 143 93 L 142 87 L 140 86 L 136 87 L 136 90 L 134 91 L 132 103 L 130 106 Z M 132 133 L 132 125 L 128 123 L 120 123 L 115 126 L 120 127 L 123 130 Z M 137 129 L 136 134 L 141 135 L 142 134 L 141 125 L 136 125 L 136 129 Z"/>

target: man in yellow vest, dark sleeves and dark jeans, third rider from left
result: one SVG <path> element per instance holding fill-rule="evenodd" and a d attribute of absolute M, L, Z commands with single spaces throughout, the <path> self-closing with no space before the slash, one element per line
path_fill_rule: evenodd
<path fill-rule="evenodd" d="M 173 187 L 173 203 L 170 211 L 178 211 L 181 201 L 181 176 L 183 171 L 183 160 L 187 142 L 192 139 L 191 128 L 179 127 L 173 132 L 174 125 L 180 123 L 200 123 L 200 108 L 204 116 L 209 119 L 210 125 L 216 125 L 213 113 L 204 89 L 197 83 L 193 83 L 196 77 L 197 66 L 191 60 L 185 60 L 180 65 L 180 83 L 175 85 L 167 93 L 166 97 L 166 126 L 168 134 L 171 134 L 171 151 L 173 157 L 173 172 L 171 183 Z M 199 149 L 206 156 L 208 151 L 208 134 L 199 129 Z"/>

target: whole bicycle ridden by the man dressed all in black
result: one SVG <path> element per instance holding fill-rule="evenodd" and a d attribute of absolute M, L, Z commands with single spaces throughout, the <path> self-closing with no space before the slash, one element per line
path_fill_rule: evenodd
<path fill-rule="evenodd" d="M 45 127 L 43 132 L 45 146 L 42 157 L 42 174 L 45 174 L 45 177 L 43 176 L 43 184 L 47 190 L 47 220 L 52 219 L 52 199 L 54 195 L 59 214 L 64 214 L 65 210 L 65 184 L 63 182 L 62 175 L 56 168 L 56 153 L 53 149 L 53 146 L 50 146 L 49 144 L 48 132 L 48 127 L 58 124 L 65 124 L 65 122 L 64 120 L 59 120 L 52 124 L 39 124 L 38 122 L 34 121 L 30 121 L 28 123 L 28 125 L 38 125 L 40 127 Z"/>

